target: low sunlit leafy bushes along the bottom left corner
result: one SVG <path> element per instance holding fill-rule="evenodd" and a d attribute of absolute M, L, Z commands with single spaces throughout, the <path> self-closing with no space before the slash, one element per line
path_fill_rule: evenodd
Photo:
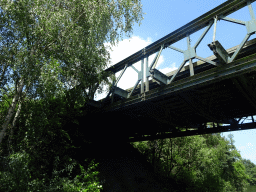
<path fill-rule="evenodd" d="M 29 162 L 31 158 L 25 152 L 11 154 L 6 160 L 7 167 L 0 171 L 0 190 L 1 191 L 63 191 L 63 192 L 99 192 L 102 187 L 97 178 L 98 172 L 94 171 L 97 164 L 92 161 L 87 170 L 80 166 L 81 174 L 75 178 L 61 177 L 63 171 L 71 173 L 75 163 L 72 162 L 62 170 L 54 170 L 53 177 L 49 184 L 46 182 L 46 175 L 42 179 L 32 176 Z"/>

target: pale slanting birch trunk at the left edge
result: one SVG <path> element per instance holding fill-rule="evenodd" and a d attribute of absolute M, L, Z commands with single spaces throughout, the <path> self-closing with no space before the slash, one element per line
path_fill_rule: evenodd
<path fill-rule="evenodd" d="M 21 78 L 20 83 L 18 85 L 17 92 L 16 92 L 16 94 L 13 97 L 11 107 L 9 108 L 8 113 L 7 113 L 6 117 L 5 117 L 5 121 L 4 121 L 3 125 L 2 125 L 2 130 L 0 132 L 0 144 L 2 143 L 2 140 L 3 140 L 4 136 L 5 136 L 6 129 L 7 129 L 8 125 L 9 125 L 9 123 L 11 121 L 11 118 L 12 118 L 14 112 L 15 112 L 15 107 L 16 107 L 16 104 L 18 102 L 20 93 L 22 92 L 23 86 L 24 86 L 24 79 Z"/>

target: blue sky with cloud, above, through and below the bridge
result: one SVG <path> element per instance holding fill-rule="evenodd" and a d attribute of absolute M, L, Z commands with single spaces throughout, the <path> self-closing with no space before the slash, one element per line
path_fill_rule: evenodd
<path fill-rule="evenodd" d="M 113 48 L 113 52 L 111 52 L 112 64 L 125 59 L 131 54 L 182 27 L 183 25 L 196 19 L 225 1 L 142 0 L 141 2 L 143 4 L 143 12 L 146 13 L 146 15 L 144 15 L 144 20 L 142 20 L 142 24 L 140 26 L 138 24 L 134 25 L 133 35 L 130 39 L 125 38 L 124 41 L 121 41 L 117 47 Z M 256 13 L 256 3 L 252 3 L 252 6 L 254 13 Z M 250 20 L 248 7 L 242 8 L 241 10 L 229 15 L 229 17 L 243 21 Z M 204 29 L 191 36 L 192 46 L 202 34 L 203 30 Z M 228 49 L 240 44 L 246 33 L 247 31 L 245 26 L 227 21 L 218 21 L 216 40 L 221 42 L 225 49 Z M 207 44 L 212 42 L 212 36 L 213 27 L 197 48 L 197 54 L 199 56 L 205 58 L 213 55 L 207 46 Z M 252 35 L 250 39 L 255 37 L 256 35 Z M 174 44 L 174 46 L 183 50 L 186 49 L 186 45 L 186 39 L 180 40 Z M 149 58 L 149 63 L 152 60 L 152 57 Z M 181 53 L 171 49 L 165 49 L 162 52 L 157 69 L 167 73 L 177 69 L 182 61 L 183 55 Z M 140 69 L 140 64 L 135 64 L 135 67 Z M 127 89 L 135 84 L 137 74 L 132 69 L 129 70 L 127 69 L 126 73 L 124 73 L 124 76 L 121 78 L 118 84 L 119 87 Z M 250 159 L 256 164 L 256 130 L 252 129 L 247 131 L 226 132 L 222 135 L 227 138 L 229 133 L 234 135 L 235 146 L 238 150 L 240 150 L 242 157 Z"/>

